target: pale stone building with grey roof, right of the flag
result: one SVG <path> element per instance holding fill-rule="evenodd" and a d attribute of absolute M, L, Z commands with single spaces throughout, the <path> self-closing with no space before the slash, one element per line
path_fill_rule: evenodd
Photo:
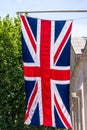
<path fill-rule="evenodd" d="M 87 38 L 72 38 L 70 99 L 73 130 L 86 130 Z"/>

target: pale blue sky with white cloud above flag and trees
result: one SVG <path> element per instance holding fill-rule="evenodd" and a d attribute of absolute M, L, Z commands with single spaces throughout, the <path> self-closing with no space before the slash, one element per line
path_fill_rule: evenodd
<path fill-rule="evenodd" d="M 0 16 L 16 17 L 18 11 L 87 10 L 87 0 L 0 0 Z M 49 20 L 73 19 L 72 36 L 87 37 L 87 13 L 38 13 L 31 17 Z"/>

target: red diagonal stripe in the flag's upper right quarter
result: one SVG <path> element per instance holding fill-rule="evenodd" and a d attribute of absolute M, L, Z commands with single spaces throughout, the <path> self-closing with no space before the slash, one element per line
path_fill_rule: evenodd
<path fill-rule="evenodd" d="M 70 24 L 70 26 L 69 26 L 69 28 L 68 28 L 62 42 L 61 42 L 61 44 L 59 46 L 59 48 L 57 49 L 56 54 L 54 55 L 54 63 L 56 62 L 56 60 L 57 60 L 57 58 L 58 58 L 58 56 L 59 56 L 59 54 L 60 54 L 60 52 L 61 52 L 61 50 L 62 50 L 62 48 L 63 48 L 63 46 L 65 44 L 65 42 L 66 42 L 66 40 L 67 40 L 67 38 L 68 38 L 68 36 L 69 36 L 69 34 L 71 32 L 71 29 L 72 29 L 72 23 Z"/>

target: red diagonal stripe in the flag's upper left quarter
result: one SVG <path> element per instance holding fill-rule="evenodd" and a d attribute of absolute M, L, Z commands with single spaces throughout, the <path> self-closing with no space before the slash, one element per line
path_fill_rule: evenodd
<path fill-rule="evenodd" d="M 35 41 L 34 41 L 34 39 L 33 39 L 32 33 L 31 33 L 31 31 L 30 31 L 30 29 L 29 29 L 29 27 L 28 27 L 28 25 L 27 25 L 25 16 L 21 16 L 21 19 L 22 19 L 22 22 L 23 22 L 24 27 L 25 27 L 25 29 L 26 29 L 26 32 L 27 32 L 27 34 L 28 34 L 28 37 L 30 38 L 31 44 L 32 44 L 32 46 L 33 46 L 33 48 L 34 48 L 34 51 L 35 51 L 35 53 L 36 53 L 36 44 L 35 44 Z"/>

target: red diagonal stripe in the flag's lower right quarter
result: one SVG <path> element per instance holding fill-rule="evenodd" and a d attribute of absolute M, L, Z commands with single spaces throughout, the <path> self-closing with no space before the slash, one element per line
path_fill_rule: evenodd
<path fill-rule="evenodd" d="M 61 108 L 60 108 L 60 106 L 59 106 L 59 104 L 58 104 L 58 102 L 57 102 L 57 99 L 56 99 L 56 96 L 55 96 L 55 95 L 54 95 L 54 101 L 55 101 L 57 110 L 58 110 L 58 112 L 59 112 L 59 114 L 60 114 L 60 116 L 61 116 L 63 122 L 65 123 L 65 125 L 67 126 L 68 129 L 71 129 L 72 126 L 69 124 L 69 122 L 67 121 L 66 117 L 64 116 L 64 114 L 63 114 L 63 112 L 62 112 L 62 110 L 61 110 Z"/>

